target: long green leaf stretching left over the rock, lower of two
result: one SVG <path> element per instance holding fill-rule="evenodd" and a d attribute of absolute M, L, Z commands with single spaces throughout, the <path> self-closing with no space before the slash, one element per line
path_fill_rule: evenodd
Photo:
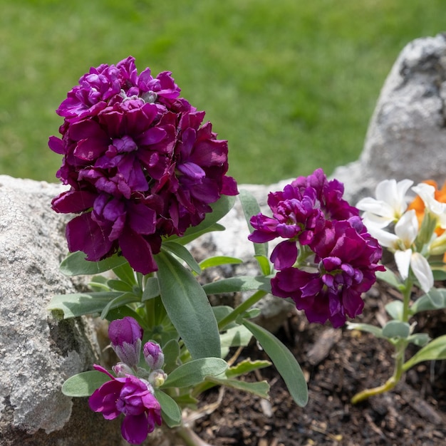
<path fill-rule="evenodd" d="M 110 301 L 123 296 L 119 291 L 99 291 L 98 293 L 57 294 L 53 296 L 48 310 L 62 310 L 63 318 L 76 318 L 84 314 L 101 313 Z M 115 308 L 111 306 L 110 308 Z"/>

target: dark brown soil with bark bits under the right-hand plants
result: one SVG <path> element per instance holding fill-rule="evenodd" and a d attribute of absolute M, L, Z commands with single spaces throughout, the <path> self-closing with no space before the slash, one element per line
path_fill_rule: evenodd
<path fill-rule="evenodd" d="M 385 304 L 392 290 L 375 286 L 365 296 L 363 315 L 356 322 L 385 323 Z M 445 311 L 424 313 L 416 331 L 437 337 L 446 333 Z M 308 380 L 309 401 L 297 406 L 274 366 L 252 373 L 248 380 L 266 379 L 270 400 L 224 390 L 217 410 L 195 425 L 203 440 L 215 446 L 365 446 L 446 445 L 445 361 L 421 363 L 409 370 L 397 387 L 358 405 L 351 397 L 381 385 L 393 373 L 393 348 L 368 333 L 334 330 L 309 324 L 294 313 L 276 336 L 295 354 Z M 410 348 L 408 355 L 417 348 Z M 245 357 L 266 358 L 254 344 Z M 214 403 L 210 390 L 204 405 Z"/>

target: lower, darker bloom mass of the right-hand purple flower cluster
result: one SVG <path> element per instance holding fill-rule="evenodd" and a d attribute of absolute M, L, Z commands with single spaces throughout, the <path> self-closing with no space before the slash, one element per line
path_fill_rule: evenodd
<path fill-rule="evenodd" d="M 331 220 L 311 244 L 313 270 L 284 268 L 271 279 L 274 296 L 291 297 L 310 322 L 337 328 L 363 310 L 361 294 L 375 283 L 382 249 L 361 219 Z"/>

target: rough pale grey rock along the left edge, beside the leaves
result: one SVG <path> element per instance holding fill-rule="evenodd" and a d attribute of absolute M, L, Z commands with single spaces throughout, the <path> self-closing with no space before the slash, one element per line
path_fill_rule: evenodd
<path fill-rule="evenodd" d="M 53 294 L 76 291 L 58 271 L 67 253 L 68 216 L 53 212 L 50 202 L 61 190 L 0 176 L 0 438 L 5 446 L 80 444 L 70 430 L 61 431 L 73 411 L 61 384 L 91 368 L 98 353 L 85 318 L 58 320 L 46 310 Z M 78 435 L 85 414 L 93 420 L 85 405 L 86 400 L 76 402 L 71 420 Z M 90 423 L 90 435 L 102 444 L 94 434 L 97 425 Z"/>

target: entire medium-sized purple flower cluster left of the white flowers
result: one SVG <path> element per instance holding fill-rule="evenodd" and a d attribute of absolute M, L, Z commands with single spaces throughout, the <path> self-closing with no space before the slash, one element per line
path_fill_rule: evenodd
<path fill-rule="evenodd" d="M 274 296 L 293 299 L 310 322 L 329 320 L 342 326 L 346 316 L 361 313 L 361 294 L 375 283 L 382 255 L 368 234 L 358 209 L 343 197 L 343 185 L 328 181 L 318 169 L 299 177 L 282 192 L 271 192 L 272 217 L 251 218 L 251 242 L 285 239 L 276 245 L 271 261 L 278 270 L 271 279 Z"/>

